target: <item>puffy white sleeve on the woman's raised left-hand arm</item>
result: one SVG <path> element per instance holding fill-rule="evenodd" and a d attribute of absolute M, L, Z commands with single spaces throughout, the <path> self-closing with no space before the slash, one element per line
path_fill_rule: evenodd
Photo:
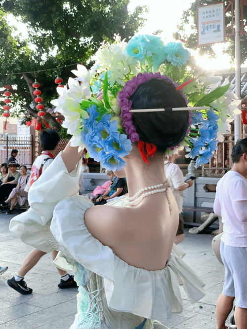
<path fill-rule="evenodd" d="M 79 194 L 81 161 L 69 173 L 61 157 L 57 155 L 50 166 L 30 188 L 28 201 L 30 209 L 15 216 L 9 229 L 24 243 L 43 252 L 58 249 L 50 232 L 50 222 L 55 206 L 63 199 Z"/>

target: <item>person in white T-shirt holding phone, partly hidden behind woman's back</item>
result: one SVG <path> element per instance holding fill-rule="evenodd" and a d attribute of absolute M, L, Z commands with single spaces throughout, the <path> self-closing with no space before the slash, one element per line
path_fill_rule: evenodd
<path fill-rule="evenodd" d="M 184 182 L 182 170 L 174 161 L 179 158 L 180 154 L 173 154 L 170 161 L 167 159 L 165 161 L 165 176 L 171 181 L 171 191 L 177 203 L 178 213 L 179 213 L 179 224 L 177 233 L 175 236 L 174 243 L 177 245 L 182 242 L 185 238 L 184 235 L 184 219 L 182 215 L 183 209 L 183 191 L 193 185 L 193 180 L 189 179 Z M 193 177 L 194 178 L 194 177 Z M 195 178 L 194 178 L 195 179 Z"/>

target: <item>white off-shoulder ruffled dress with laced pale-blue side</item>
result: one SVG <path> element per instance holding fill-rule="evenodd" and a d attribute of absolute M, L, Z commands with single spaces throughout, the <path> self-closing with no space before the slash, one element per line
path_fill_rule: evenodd
<path fill-rule="evenodd" d="M 32 185 L 31 208 L 11 220 L 10 231 L 39 250 L 60 251 L 54 263 L 74 272 L 78 314 L 71 329 L 167 329 L 165 320 L 182 312 L 179 285 L 196 302 L 204 283 L 175 245 L 163 270 L 147 271 L 95 239 L 84 222 L 94 205 L 78 195 L 79 178 L 80 164 L 68 173 L 59 154 Z M 110 204 L 122 206 L 124 198 Z"/>

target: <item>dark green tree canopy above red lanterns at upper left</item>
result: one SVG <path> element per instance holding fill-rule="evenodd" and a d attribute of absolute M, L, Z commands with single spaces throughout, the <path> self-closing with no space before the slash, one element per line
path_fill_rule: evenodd
<path fill-rule="evenodd" d="M 73 63 L 92 65 L 91 56 L 103 40 L 113 41 L 114 34 L 128 40 L 145 22 L 145 6 L 138 6 L 130 13 L 129 0 L 2 0 L 0 1 L 0 73 L 38 72 L 61 68 Z M 28 38 L 7 23 L 7 14 L 14 15 L 27 24 Z M 13 36 L 15 32 L 15 36 Z M 17 35 L 17 36 L 16 36 Z M 68 80 L 76 66 L 57 70 L 59 76 Z M 57 98 L 55 70 L 37 73 L 41 83 L 43 104 L 50 107 L 50 100 Z M 34 73 L 0 75 L 0 87 L 5 84 L 17 86 L 12 90 L 13 116 L 25 113 L 37 117 L 32 83 Z M 3 91 L 0 91 L 3 101 Z M 0 102 L 0 105 L 4 105 Z M 0 110 L 2 113 L 2 107 Z M 58 126 L 46 113 L 45 119 Z"/>

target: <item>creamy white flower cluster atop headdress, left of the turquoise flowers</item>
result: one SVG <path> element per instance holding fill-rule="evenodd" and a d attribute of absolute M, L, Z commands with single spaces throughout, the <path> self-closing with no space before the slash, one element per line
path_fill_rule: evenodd
<path fill-rule="evenodd" d="M 125 84 L 125 75 L 137 74 L 138 61 L 125 52 L 127 43 L 121 41 L 121 37 L 114 36 L 115 42 L 110 44 L 104 42 L 96 52 L 94 68 L 98 73 L 104 73 L 107 69 L 110 71 L 108 81 L 113 86 L 115 81 L 121 85 Z"/>

